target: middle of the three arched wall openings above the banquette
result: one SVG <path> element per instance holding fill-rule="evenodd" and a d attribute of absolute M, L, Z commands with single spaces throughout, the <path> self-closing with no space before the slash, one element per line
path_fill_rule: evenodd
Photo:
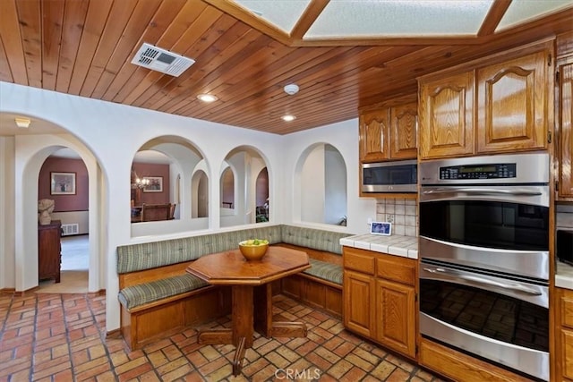
<path fill-rule="evenodd" d="M 260 195 L 265 195 L 265 201 L 269 199 L 267 168 L 265 158 L 250 146 L 238 147 L 227 154 L 219 172 L 222 227 L 263 223 L 257 219 L 257 207 L 261 207 Z M 257 187 L 263 169 L 266 174 L 265 184 Z"/>

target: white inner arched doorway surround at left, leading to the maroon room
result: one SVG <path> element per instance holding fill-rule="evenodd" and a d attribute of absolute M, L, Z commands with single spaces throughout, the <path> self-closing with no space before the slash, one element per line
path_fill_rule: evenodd
<path fill-rule="evenodd" d="M 15 289 L 26 291 L 38 286 L 38 179 L 47 158 L 61 149 L 71 149 L 78 154 L 88 174 L 89 279 L 88 292 L 96 293 L 106 288 L 107 257 L 104 203 L 105 176 L 98 160 L 80 140 L 71 134 L 33 135 L 18 137 L 15 146 L 16 188 L 14 235 Z M 34 234 L 31 234 L 34 233 Z"/>

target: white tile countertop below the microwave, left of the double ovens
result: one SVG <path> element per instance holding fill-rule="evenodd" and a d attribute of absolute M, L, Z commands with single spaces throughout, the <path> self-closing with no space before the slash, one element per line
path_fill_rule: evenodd
<path fill-rule="evenodd" d="M 343 237 L 340 239 L 340 245 L 418 259 L 418 238 L 414 236 L 402 236 L 399 234 L 384 236 L 365 233 Z"/>

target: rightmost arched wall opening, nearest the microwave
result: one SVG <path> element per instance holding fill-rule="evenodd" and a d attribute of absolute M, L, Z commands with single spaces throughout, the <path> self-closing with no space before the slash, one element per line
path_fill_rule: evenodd
<path fill-rule="evenodd" d="M 299 158 L 296 173 L 300 220 L 346 225 L 346 163 L 338 149 L 327 143 L 312 145 Z"/>

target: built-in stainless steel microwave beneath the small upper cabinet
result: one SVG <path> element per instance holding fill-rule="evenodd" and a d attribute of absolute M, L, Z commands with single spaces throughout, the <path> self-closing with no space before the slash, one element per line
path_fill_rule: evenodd
<path fill-rule="evenodd" d="M 414 160 L 363 163 L 363 192 L 417 192 L 418 163 Z"/>

